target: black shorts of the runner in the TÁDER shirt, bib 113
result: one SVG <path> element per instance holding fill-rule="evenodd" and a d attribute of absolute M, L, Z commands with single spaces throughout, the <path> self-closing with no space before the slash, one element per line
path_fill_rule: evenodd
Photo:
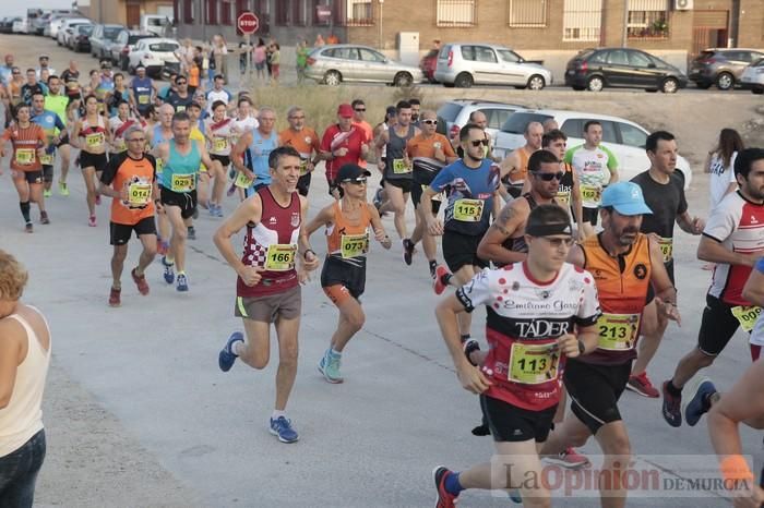
<path fill-rule="evenodd" d="M 532 411 L 485 395 L 480 396 L 480 408 L 497 443 L 546 442 L 557 411 L 557 404 Z"/>

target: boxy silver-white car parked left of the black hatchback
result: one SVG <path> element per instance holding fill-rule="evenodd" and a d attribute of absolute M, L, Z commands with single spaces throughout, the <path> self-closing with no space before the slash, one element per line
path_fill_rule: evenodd
<path fill-rule="evenodd" d="M 438 53 L 435 80 L 447 87 L 506 85 L 540 90 L 551 85 L 552 73 L 503 46 L 449 43 Z"/>

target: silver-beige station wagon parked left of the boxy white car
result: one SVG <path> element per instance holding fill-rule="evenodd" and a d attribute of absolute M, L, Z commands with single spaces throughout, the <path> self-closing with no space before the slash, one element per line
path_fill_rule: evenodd
<path fill-rule="evenodd" d="M 391 60 L 367 46 L 348 44 L 314 49 L 308 57 L 306 76 L 332 86 L 342 82 L 409 86 L 425 80 L 419 68 Z"/>

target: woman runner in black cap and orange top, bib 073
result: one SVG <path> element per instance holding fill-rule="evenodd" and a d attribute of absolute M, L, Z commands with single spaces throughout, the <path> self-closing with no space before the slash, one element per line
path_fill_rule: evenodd
<path fill-rule="evenodd" d="M 337 329 L 319 362 L 319 372 L 329 383 L 343 383 L 339 373 L 343 351 L 366 322 L 360 298 L 366 289 L 369 228 L 384 249 L 392 245 L 377 208 L 366 201 L 368 177 L 371 173 L 357 165 L 339 168 L 337 184 L 342 198 L 324 207 L 306 226 L 308 237 L 322 227 L 326 228 L 327 253 L 321 271 L 321 287 L 339 310 Z"/>

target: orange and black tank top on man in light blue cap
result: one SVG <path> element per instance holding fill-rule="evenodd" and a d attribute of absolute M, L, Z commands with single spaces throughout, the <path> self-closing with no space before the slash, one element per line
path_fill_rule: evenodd
<path fill-rule="evenodd" d="M 602 315 L 597 319 L 599 348 L 581 361 L 618 365 L 636 358 L 642 311 L 650 283 L 649 240 L 638 233 L 631 250 L 612 257 L 602 247 L 600 234 L 587 238 L 584 268 L 597 285 Z"/>

